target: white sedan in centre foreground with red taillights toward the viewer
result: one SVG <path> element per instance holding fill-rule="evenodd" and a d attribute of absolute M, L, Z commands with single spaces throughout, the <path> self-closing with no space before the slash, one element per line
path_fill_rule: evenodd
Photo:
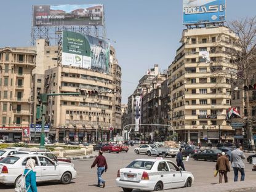
<path fill-rule="evenodd" d="M 116 185 L 124 192 L 190 187 L 193 182 L 191 172 L 183 171 L 174 162 L 162 158 L 136 159 L 126 168 L 119 169 L 116 178 Z"/>

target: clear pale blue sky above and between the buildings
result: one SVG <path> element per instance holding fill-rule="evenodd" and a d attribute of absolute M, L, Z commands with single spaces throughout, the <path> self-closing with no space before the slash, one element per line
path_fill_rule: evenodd
<path fill-rule="evenodd" d="M 0 47 L 30 46 L 32 5 L 95 4 L 105 6 L 106 34 L 122 67 L 122 103 L 148 68 L 167 69 L 180 46 L 182 0 L 2 0 Z M 255 0 L 226 0 L 227 20 L 254 17 Z M 116 41 L 116 42 L 114 42 Z"/>

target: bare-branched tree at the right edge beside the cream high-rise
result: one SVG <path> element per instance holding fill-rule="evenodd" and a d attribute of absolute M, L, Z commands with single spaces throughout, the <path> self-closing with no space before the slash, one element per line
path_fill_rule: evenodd
<path fill-rule="evenodd" d="M 224 50 L 226 58 L 229 59 L 233 68 L 228 70 L 215 71 L 217 76 L 230 78 L 233 84 L 239 89 L 250 84 L 250 80 L 254 79 L 256 71 L 256 17 L 234 20 L 228 24 L 227 30 L 235 34 L 235 38 L 229 39 L 225 44 L 218 44 L 222 51 Z M 252 108 L 250 107 L 249 90 L 244 90 L 246 96 L 247 109 L 247 134 L 248 139 L 252 142 L 255 150 L 254 138 L 252 135 Z"/>

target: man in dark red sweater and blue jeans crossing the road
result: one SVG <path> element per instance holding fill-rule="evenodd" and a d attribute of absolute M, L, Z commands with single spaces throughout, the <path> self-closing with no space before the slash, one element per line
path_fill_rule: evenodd
<path fill-rule="evenodd" d="M 92 167 L 95 167 L 97 164 L 97 176 L 98 176 L 98 187 L 100 187 L 100 183 L 102 183 L 103 188 L 105 188 L 106 182 L 105 180 L 103 180 L 102 178 L 102 174 L 103 172 L 108 169 L 108 164 L 106 164 L 106 158 L 105 156 L 102 155 L 103 151 L 98 151 L 98 156 L 97 158 L 94 160 L 94 163 L 92 164 L 92 166 L 90 167 L 92 169 Z"/>

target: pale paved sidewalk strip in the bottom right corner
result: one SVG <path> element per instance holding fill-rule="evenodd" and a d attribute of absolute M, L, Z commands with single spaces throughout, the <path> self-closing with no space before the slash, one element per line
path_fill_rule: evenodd
<path fill-rule="evenodd" d="M 192 186 L 190 188 L 179 188 L 175 190 L 167 190 L 171 192 L 240 192 L 246 190 L 256 191 L 255 180 L 247 180 L 244 182 L 230 182 L 222 184 L 212 184 L 212 185 L 202 185 L 202 186 Z"/>

